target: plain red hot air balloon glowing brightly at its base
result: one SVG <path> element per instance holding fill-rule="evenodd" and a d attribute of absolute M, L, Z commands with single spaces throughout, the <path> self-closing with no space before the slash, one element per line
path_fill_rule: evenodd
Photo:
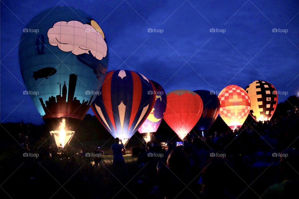
<path fill-rule="evenodd" d="M 173 90 L 167 94 L 164 120 L 183 140 L 199 120 L 203 109 L 202 99 L 190 90 Z"/>

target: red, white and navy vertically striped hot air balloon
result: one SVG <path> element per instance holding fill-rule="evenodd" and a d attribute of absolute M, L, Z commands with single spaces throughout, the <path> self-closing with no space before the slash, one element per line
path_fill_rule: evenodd
<path fill-rule="evenodd" d="M 93 112 L 108 132 L 125 144 L 153 109 L 154 86 L 140 73 L 116 70 L 107 73 L 100 91 Z"/>

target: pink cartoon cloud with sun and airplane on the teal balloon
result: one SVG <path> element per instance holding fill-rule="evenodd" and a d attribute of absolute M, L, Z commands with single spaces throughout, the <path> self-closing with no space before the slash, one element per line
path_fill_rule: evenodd
<path fill-rule="evenodd" d="M 58 21 L 48 30 L 47 35 L 52 46 L 77 55 L 78 60 L 91 67 L 102 81 L 101 74 L 107 72 L 107 66 L 100 60 L 107 56 L 107 44 L 96 21 L 92 20 L 91 25 L 80 21 Z"/>

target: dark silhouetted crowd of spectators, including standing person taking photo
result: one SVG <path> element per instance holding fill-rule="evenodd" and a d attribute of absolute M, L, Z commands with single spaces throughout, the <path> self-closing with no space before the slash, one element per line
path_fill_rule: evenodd
<path fill-rule="evenodd" d="M 191 132 L 180 145 L 169 141 L 167 151 L 151 135 L 138 155 L 138 182 L 163 199 L 299 198 L 298 122 L 294 109 L 207 137 Z M 111 148 L 119 165 L 124 146 L 118 142 Z"/>

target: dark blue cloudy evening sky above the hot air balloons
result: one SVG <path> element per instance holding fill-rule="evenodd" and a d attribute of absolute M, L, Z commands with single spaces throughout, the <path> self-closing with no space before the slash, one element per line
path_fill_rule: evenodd
<path fill-rule="evenodd" d="M 108 71 L 140 72 L 166 92 L 245 88 L 259 79 L 281 92 L 279 102 L 299 92 L 298 1 L 3 0 L 1 122 L 43 123 L 30 96 L 23 95 L 18 43 L 31 18 L 56 5 L 81 9 L 100 24 L 110 50 Z"/>

